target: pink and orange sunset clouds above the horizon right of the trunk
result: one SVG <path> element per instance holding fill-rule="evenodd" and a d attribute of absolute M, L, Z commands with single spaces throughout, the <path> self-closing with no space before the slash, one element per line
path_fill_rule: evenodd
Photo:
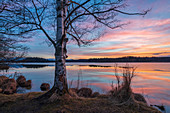
<path fill-rule="evenodd" d="M 109 30 L 96 45 L 71 50 L 69 58 L 170 55 L 170 19 L 132 20 L 125 29 Z M 77 53 L 77 51 L 79 51 Z"/>

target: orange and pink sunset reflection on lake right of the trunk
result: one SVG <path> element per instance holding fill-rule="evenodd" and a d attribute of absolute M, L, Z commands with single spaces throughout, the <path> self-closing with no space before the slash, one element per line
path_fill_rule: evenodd
<path fill-rule="evenodd" d="M 92 64 L 94 65 L 94 64 Z M 112 81 L 117 83 L 114 76 L 114 63 L 97 63 L 100 66 L 88 66 L 88 65 L 76 65 L 68 66 L 68 73 L 74 73 L 74 81 L 76 82 L 75 75 L 78 72 L 77 69 L 81 69 L 81 79 L 83 84 L 88 81 L 89 87 L 94 89 L 100 88 L 102 91 L 109 91 L 111 89 Z M 125 63 L 119 63 L 119 66 L 123 66 Z M 102 67 L 111 66 L 111 67 Z M 148 95 L 150 102 L 160 101 L 165 105 L 170 105 L 168 101 L 170 95 L 170 64 L 169 63 L 130 63 L 130 66 L 136 66 L 136 77 L 132 80 L 132 89 L 136 93 L 142 93 Z M 118 74 L 121 75 L 122 69 L 118 69 Z M 122 77 L 120 77 L 122 78 Z M 95 88 L 96 87 L 96 88 Z"/>

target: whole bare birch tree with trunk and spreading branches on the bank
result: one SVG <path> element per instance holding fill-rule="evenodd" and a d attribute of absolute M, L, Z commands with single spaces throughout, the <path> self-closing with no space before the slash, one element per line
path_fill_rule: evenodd
<path fill-rule="evenodd" d="M 28 37 L 42 33 L 55 49 L 55 79 L 50 91 L 40 98 L 68 92 L 66 45 L 74 40 L 79 46 L 100 38 L 101 27 L 122 27 L 118 14 L 146 15 L 149 10 L 126 12 L 125 0 L 1 0 L 0 33 Z"/>

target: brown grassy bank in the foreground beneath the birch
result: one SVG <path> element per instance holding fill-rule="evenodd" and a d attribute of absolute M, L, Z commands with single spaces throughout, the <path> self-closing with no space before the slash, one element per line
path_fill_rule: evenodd
<path fill-rule="evenodd" d="M 114 98 L 100 95 L 96 98 L 64 96 L 54 101 L 36 101 L 42 92 L 27 94 L 0 94 L 0 113 L 160 113 L 147 104 L 118 104 Z"/>

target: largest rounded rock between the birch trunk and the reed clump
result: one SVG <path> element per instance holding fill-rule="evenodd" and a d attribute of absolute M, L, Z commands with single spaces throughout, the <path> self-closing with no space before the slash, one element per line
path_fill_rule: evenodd
<path fill-rule="evenodd" d="M 77 92 L 78 96 L 80 97 L 91 97 L 92 89 L 90 88 L 81 88 Z"/>

